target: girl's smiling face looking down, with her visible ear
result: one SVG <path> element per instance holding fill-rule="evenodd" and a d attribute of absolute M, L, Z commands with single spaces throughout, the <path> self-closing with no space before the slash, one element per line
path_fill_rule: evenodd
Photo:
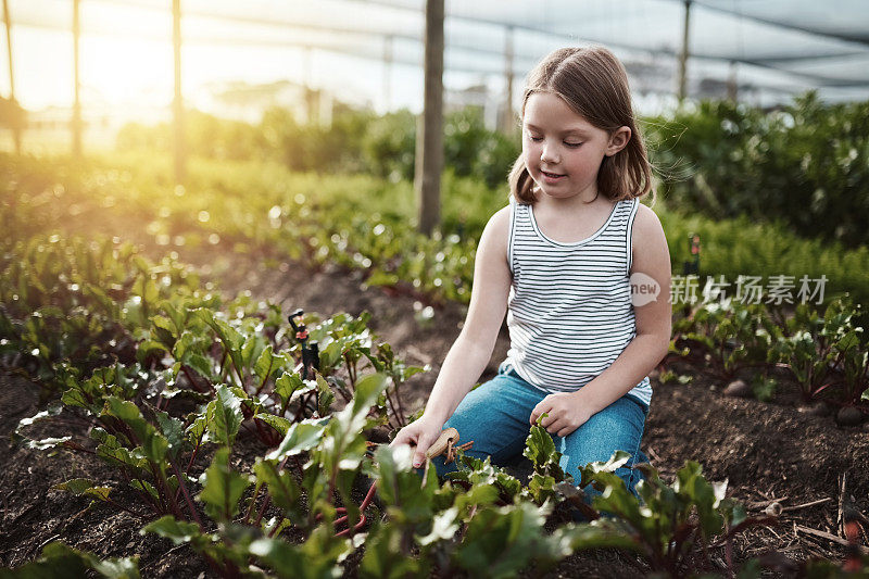
<path fill-rule="evenodd" d="M 545 194 L 591 201 L 601 162 L 624 149 L 630 134 L 630 128 L 620 127 L 610 135 L 575 113 L 561 97 L 536 92 L 526 101 L 522 118 L 525 164 Z"/>

